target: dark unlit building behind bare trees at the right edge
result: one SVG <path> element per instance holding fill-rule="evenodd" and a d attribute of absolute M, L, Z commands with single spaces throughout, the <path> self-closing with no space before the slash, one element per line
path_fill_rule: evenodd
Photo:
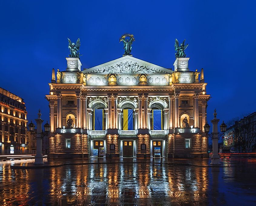
<path fill-rule="evenodd" d="M 244 116 L 227 128 L 223 151 L 230 151 L 232 147 L 238 152 L 256 152 L 256 112 Z"/>

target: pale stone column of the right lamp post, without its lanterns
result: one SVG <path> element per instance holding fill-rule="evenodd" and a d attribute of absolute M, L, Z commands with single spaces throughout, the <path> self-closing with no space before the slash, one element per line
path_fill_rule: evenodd
<path fill-rule="evenodd" d="M 216 118 L 217 113 L 216 109 L 214 110 L 214 119 L 211 120 L 212 123 L 212 156 L 211 156 L 211 164 L 220 165 L 220 157 L 218 155 L 218 122 L 219 119 Z"/>

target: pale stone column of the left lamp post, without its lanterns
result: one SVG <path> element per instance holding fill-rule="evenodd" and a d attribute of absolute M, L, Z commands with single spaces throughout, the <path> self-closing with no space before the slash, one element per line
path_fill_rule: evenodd
<path fill-rule="evenodd" d="M 34 164 L 44 164 L 43 155 L 42 155 L 42 123 L 41 113 L 39 109 L 38 119 L 35 119 L 36 122 L 36 155 Z"/>

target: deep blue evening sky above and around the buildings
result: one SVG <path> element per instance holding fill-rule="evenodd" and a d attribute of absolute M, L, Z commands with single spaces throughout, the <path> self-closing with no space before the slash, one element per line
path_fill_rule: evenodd
<path fill-rule="evenodd" d="M 0 87 L 24 98 L 28 120 L 49 119 L 52 68 L 65 70 L 69 37 L 80 37 L 82 68 L 117 59 L 123 33 L 132 54 L 173 68 L 174 42 L 186 39 L 189 68 L 204 68 L 208 121 L 255 111 L 254 1 L 1 1 Z"/>

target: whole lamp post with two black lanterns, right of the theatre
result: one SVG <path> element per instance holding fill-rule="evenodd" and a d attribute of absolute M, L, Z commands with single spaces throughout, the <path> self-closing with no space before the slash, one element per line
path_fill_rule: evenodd
<path fill-rule="evenodd" d="M 218 122 L 220 121 L 219 119 L 216 118 L 217 113 L 216 109 L 214 110 L 214 119 L 211 120 L 212 123 L 212 133 L 208 134 L 210 131 L 210 125 L 206 122 L 204 125 L 204 132 L 206 133 L 207 137 L 211 137 L 212 139 L 212 156 L 211 156 L 211 164 L 212 165 L 220 165 L 220 157 L 218 155 L 218 140 L 219 138 L 226 132 L 227 125 L 224 123 L 221 124 L 220 129 L 222 133 L 218 133 Z"/>

